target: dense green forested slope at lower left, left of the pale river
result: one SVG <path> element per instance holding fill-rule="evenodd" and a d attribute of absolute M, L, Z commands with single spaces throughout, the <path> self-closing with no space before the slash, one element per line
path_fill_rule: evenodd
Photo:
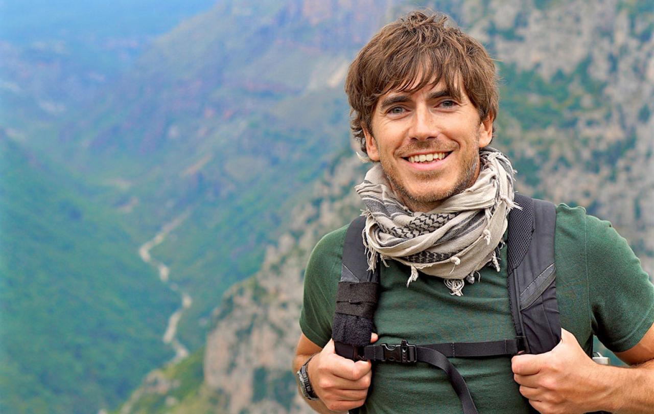
<path fill-rule="evenodd" d="M 0 411 L 88 413 L 171 358 L 178 298 L 111 209 L 0 137 Z"/>

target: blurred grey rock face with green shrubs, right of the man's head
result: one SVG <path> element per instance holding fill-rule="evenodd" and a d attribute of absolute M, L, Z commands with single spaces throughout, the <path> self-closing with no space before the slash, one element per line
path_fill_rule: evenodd
<path fill-rule="evenodd" d="M 553 83 L 562 79 L 566 97 L 579 97 L 562 110 L 570 125 L 510 131 L 513 157 L 533 160 L 540 170 L 538 184 L 521 189 L 611 220 L 651 275 L 654 15 L 614 0 L 557 2 L 545 10 L 516 3 L 515 37 L 496 35 L 491 47 L 504 63 Z M 575 75 L 581 69 L 585 80 Z"/>

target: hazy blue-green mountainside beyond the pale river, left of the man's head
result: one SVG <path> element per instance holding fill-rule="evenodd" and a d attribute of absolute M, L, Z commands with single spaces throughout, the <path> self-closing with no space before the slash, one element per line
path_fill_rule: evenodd
<path fill-rule="evenodd" d="M 357 41 L 340 33 L 335 51 L 336 26 L 301 20 L 301 2 L 250 3 L 220 2 L 160 37 L 56 142 L 33 143 L 84 173 L 144 241 L 186 217 L 152 254 L 192 298 L 178 331 L 190 349 L 348 141 L 341 82 Z"/>

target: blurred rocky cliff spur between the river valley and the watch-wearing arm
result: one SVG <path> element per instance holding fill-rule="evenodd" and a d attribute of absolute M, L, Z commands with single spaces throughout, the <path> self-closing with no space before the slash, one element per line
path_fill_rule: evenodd
<path fill-rule="evenodd" d="M 362 163 L 343 158 L 315 188 L 312 202 L 277 247 L 269 247 L 262 269 L 234 286 L 216 309 L 207 337 L 205 383 L 229 396 L 228 413 L 309 413 L 297 393 L 290 367 L 300 338 L 303 271 L 320 237 L 360 212 L 353 186 Z"/>

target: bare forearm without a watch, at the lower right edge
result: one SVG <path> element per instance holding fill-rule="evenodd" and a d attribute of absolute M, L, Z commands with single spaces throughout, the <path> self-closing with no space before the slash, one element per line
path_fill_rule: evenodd
<path fill-rule="evenodd" d="M 602 409 L 616 414 L 654 412 L 654 360 L 629 368 L 602 367 L 599 372 L 600 395 L 606 396 Z"/>

